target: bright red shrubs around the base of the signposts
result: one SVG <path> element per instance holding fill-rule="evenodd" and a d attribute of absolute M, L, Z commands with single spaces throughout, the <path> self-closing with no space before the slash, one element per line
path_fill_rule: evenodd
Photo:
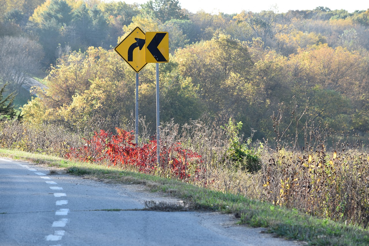
<path fill-rule="evenodd" d="M 161 142 L 160 167 L 157 165 L 156 138 L 142 145 L 134 142 L 134 133 L 115 128 L 117 134 L 100 130 L 95 131 L 92 139 L 83 139 L 86 143 L 80 148 L 71 148 L 66 154 L 69 159 L 86 162 L 107 161 L 108 165 L 122 168 L 136 167 L 139 172 L 148 174 L 162 173 L 179 179 L 188 178 L 197 172 L 202 163 L 201 156 L 191 150 L 183 149 L 181 143 Z"/>

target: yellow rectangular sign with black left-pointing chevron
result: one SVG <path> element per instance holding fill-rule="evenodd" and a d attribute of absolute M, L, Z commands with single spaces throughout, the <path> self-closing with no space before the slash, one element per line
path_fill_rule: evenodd
<path fill-rule="evenodd" d="M 146 32 L 146 62 L 168 62 L 169 36 L 168 32 Z"/>

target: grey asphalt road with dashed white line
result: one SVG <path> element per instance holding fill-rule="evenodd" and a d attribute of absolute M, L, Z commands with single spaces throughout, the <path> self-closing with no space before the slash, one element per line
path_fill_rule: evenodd
<path fill-rule="evenodd" d="M 297 245 L 236 225 L 232 215 L 139 210 L 151 200 L 178 202 L 0 158 L 0 245 Z"/>

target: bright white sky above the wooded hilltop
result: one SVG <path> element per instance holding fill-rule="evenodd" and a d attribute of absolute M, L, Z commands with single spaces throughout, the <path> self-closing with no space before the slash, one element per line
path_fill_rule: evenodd
<path fill-rule="evenodd" d="M 121 0 L 125 3 L 146 3 L 147 0 Z M 260 12 L 269 10 L 273 5 L 277 5 L 279 13 L 288 10 L 313 10 L 318 6 L 328 7 L 331 10 L 344 9 L 349 13 L 355 10 L 367 10 L 369 1 L 367 0 L 179 0 L 182 8 L 186 8 L 192 13 L 204 10 L 207 13 L 226 14 L 240 13 L 242 10 Z"/>

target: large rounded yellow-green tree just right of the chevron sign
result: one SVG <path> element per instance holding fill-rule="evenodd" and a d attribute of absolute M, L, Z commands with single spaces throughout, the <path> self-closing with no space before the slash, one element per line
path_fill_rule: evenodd
<path fill-rule="evenodd" d="M 244 89 L 253 64 L 245 43 L 219 35 L 178 49 L 174 59 L 179 74 L 191 78 L 197 88 L 204 110 L 212 115 L 223 110 L 237 115 L 246 107 L 242 103 L 247 105 L 245 100 L 250 94 Z"/>

